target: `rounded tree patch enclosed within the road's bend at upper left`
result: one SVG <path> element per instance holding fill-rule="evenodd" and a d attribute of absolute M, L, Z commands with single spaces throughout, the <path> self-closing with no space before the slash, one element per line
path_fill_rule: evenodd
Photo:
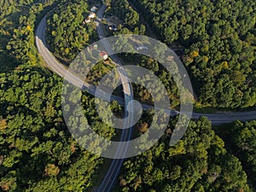
<path fill-rule="evenodd" d="M 87 1 L 60 3 L 48 16 L 48 43 L 61 59 L 72 61 L 84 47 L 96 41 L 96 24 L 85 23 L 90 14 Z"/>

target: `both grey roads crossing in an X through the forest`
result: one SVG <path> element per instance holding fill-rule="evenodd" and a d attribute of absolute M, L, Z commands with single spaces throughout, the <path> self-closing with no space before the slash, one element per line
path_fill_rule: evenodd
<path fill-rule="evenodd" d="M 102 15 L 104 13 L 104 10 L 106 9 L 106 6 L 103 5 L 101 9 L 98 11 L 98 18 L 101 19 Z M 39 54 L 43 57 L 44 61 L 47 63 L 48 67 L 54 72 L 60 75 L 61 77 L 65 77 L 67 73 L 67 67 L 64 67 L 59 61 L 55 59 L 55 56 L 52 55 L 47 48 L 47 44 L 45 41 L 45 31 L 46 31 L 46 16 L 44 16 L 43 20 L 38 25 L 37 31 L 36 31 L 36 45 L 38 48 Z M 97 26 L 97 32 L 100 38 L 105 38 L 105 34 L 102 30 L 102 25 Z M 111 53 L 110 45 L 108 44 L 108 41 L 104 41 L 104 47 L 108 51 L 108 53 Z M 124 68 L 121 67 L 121 62 L 119 61 L 119 58 L 116 55 L 111 56 L 112 60 L 116 63 L 117 69 L 119 72 L 119 76 L 122 82 L 127 82 L 127 77 Z M 70 83 L 77 85 L 78 87 L 82 88 L 83 90 L 88 90 L 88 92 L 95 96 L 96 93 L 96 87 L 95 85 L 88 84 L 84 82 L 83 80 L 79 79 L 75 75 L 71 74 L 69 79 Z M 111 98 L 113 100 L 118 101 L 120 104 L 125 105 L 127 107 L 127 104 L 129 102 L 133 101 L 133 94 L 131 90 L 131 84 L 123 84 L 123 89 L 125 93 L 125 99 L 119 96 L 112 96 Z M 101 97 L 102 99 L 108 98 L 108 93 L 105 92 L 99 92 L 100 94 L 97 94 L 96 96 Z M 102 93 L 102 94 L 101 94 Z M 143 104 L 143 109 L 152 108 L 150 105 Z M 175 110 L 167 109 L 168 113 L 174 115 L 178 112 Z M 125 113 L 127 111 L 125 110 Z M 250 111 L 250 112 L 239 112 L 239 113 L 193 113 L 192 117 L 193 119 L 198 119 L 201 116 L 207 116 L 208 119 L 212 121 L 213 125 L 220 125 L 223 123 L 230 123 L 236 119 L 240 120 L 252 120 L 256 119 L 256 111 Z M 127 119 L 132 120 L 132 119 Z M 132 129 L 125 129 L 122 131 L 120 141 L 126 141 L 131 138 Z M 120 146 L 118 148 L 118 151 L 116 155 L 125 155 L 125 152 L 129 146 Z M 108 169 L 108 172 L 106 176 L 104 177 L 102 184 L 96 189 L 96 191 L 102 192 L 102 191 L 111 191 L 113 188 L 113 183 L 116 180 L 116 177 L 119 175 L 119 170 L 122 166 L 123 159 L 115 159 L 112 161 L 111 166 Z"/>

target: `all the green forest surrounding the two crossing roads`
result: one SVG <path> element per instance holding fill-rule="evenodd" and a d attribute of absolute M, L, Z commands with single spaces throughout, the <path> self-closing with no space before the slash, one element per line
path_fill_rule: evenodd
<path fill-rule="evenodd" d="M 141 15 L 128 1 L 116 2 L 106 1 L 111 6 L 108 14 L 119 13 L 124 20 L 124 26 L 114 33 L 144 34 Z M 108 160 L 80 147 L 68 131 L 61 111 L 63 79 L 45 67 L 35 46 L 38 21 L 55 8 L 48 17 L 49 47 L 61 61 L 71 61 L 79 50 L 97 39 L 96 26 L 83 23 L 91 3 L 0 2 L 1 191 L 90 191 L 100 184 L 108 169 Z M 198 105 L 255 105 L 253 0 L 133 3 L 162 41 L 184 49 L 180 56 L 192 77 Z M 156 73 L 169 94 L 174 93 L 170 96 L 172 106 L 178 106 L 172 77 L 159 63 L 138 55 L 127 61 L 131 60 Z M 102 62 L 97 67 L 98 71 L 108 68 Z M 137 97 L 148 101 L 150 96 L 143 88 L 135 86 L 135 90 Z M 98 117 L 94 96 L 84 91 L 81 101 L 94 131 L 118 139 L 119 131 Z M 118 102 L 111 107 L 114 113 L 122 113 Z M 150 114 L 144 113 L 135 133 L 147 131 L 150 120 Z M 177 117 L 170 120 L 166 134 L 153 148 L 125 160 L 114 191 L 255 191 L 255 120 L 212 126 L 205 117 L 194 119 L 183 139 L 170 147 L 176 122 Z"/>

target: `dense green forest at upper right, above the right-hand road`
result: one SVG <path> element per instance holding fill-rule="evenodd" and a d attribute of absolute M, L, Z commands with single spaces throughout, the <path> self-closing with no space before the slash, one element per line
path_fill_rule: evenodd
<path fill-rule="evenodd" d="M 183 50 L 180 55 L 203 107 L 255 105 L 255 1 L 133 3 L 162 41 Z"/>

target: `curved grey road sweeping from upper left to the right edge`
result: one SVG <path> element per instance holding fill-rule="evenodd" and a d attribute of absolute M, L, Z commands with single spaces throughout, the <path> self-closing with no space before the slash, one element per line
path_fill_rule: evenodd
<path fill-rule="evenodd" d="M 46 15 L 44 16 L 43 20 L 40 21 L 37 31 L 36 31 L 36 45 L 38 48 L 39 54 L 43 57 L 44 61 L 47 63 L 48 67 L 61 77 L 65 77 L 67 73 L 67 68 L 64 67 L 59 61 L 55 59 L 55 56 L 52 55 L 47 48 L 46 42 L 45 42 L 45 29 L 46 29 Z M 83 87 L 84 90 L 88 90 L 90 94 L 95 95 L 95 86 L 92 84 L 86 84 L 81 81 L 81 79 L 78 79 L 76 76 L 72 76 L 71 79 L 69 79 L 72 84 L 78 85 Z M 105 94 L 102 93 L 102 95 L 99 95 L 102 99 L 104 98 Z M 107 97 L 107 96 L 106 96 Z M 119 96 L 111 96 L 112 100 L 118 101 L 120 104 L 124 105 L 125 101 L 123 98 Z M 144 109 L 152 108 L 150 105 L 142 105 Z M 177 111 L 175 110 L 169 110 L 170 114 L 177 114 Z M 246 121 L 246 120 L 253 120 L 256 119 L 256 111 L 248 111 L 248 112 L 229 112 L 229 113 L 193 113 L 192 118 L 198 119 L 201 116 L 206 116 L 209 120 L 212 121 L 213 125 L 219 125 L 223 123 L 230 123 L 232 121 L 235 121 L 237 119 Z"/>

